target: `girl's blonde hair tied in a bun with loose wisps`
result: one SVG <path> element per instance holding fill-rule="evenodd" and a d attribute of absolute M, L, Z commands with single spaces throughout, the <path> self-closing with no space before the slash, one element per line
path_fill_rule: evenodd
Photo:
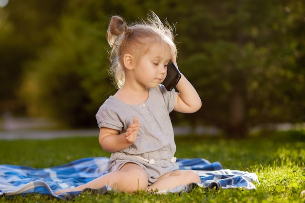
<path fill-rule="evenodd" d="M 166 21 L 163 24 L 153 12 L 146 20 L 141 20 L 128 26 L 123 18 L 113 16 L 107 30 L 107 40 L 112 47 L 110 53 L 109 73 L 114 77 L 114 85 L 121 88 L 125 82 L 123 56 L 133 53 L 135 60 L 145 54 L 151 44 L 148 42 L 162 42 L 171 49 L 171 59 L 176 60 L 177 47 L 174 43 L 172 27 Z"/>

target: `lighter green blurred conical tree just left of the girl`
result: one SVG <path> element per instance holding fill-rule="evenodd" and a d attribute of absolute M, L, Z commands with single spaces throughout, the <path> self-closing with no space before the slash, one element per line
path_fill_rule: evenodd
<path fill-rule="evenodd" d="M 26 65 L 22 96 L 31 115 L 68 127 L 96 125 L 95 113 L 114 88 L 106 70 L 106 14 L 99 10 L 106 3 L 92 2 L 71 1 L 50 45 Z"/>

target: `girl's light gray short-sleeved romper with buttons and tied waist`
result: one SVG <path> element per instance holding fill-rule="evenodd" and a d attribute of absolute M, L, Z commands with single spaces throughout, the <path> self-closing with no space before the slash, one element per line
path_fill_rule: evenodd
<path fill-rule="evenodd" d="M 111 154 L 109 172 L 118 171 L 126 163 L 142 166 L 148 174 L 149 185 L 171 171 L 179 169 L 175 163 L 176 145 L 169 113 L 174 108 L 175 91 L 163 85 L 148 88 L 149 97 L 138 105 L 126 104 L 110 96 L 96 113 L 99 128 L 106 127 L 126 132 L 134 117 L 140 124 L 135 143 Z"/>

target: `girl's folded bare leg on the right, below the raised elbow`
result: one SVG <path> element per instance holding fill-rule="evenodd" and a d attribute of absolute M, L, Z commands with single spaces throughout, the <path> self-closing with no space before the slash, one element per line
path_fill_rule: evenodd
<path fill-rule="evenodd" d="M 168 190 L 179 185 L 189 185 L 190 183 L 200 183 L 199 175 L 192 170 L 176 170 L 169 172 L 147 187 L 147 191 Z"/>

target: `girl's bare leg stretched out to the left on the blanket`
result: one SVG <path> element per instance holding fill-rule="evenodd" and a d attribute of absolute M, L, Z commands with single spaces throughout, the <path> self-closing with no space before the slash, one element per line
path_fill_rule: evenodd
<path fill-rule="evenodd" d="M 85 188 L 98 189 L 105 185 L 111 186 L 116 191 L 134 192 L 136 190 L 145 190 L 148 185 L 148 176 L 141 166 L 127 163 L 119 171 L 107 173 L 85 185 L 58 190 L 55 194 L 82 191 Z"/>

